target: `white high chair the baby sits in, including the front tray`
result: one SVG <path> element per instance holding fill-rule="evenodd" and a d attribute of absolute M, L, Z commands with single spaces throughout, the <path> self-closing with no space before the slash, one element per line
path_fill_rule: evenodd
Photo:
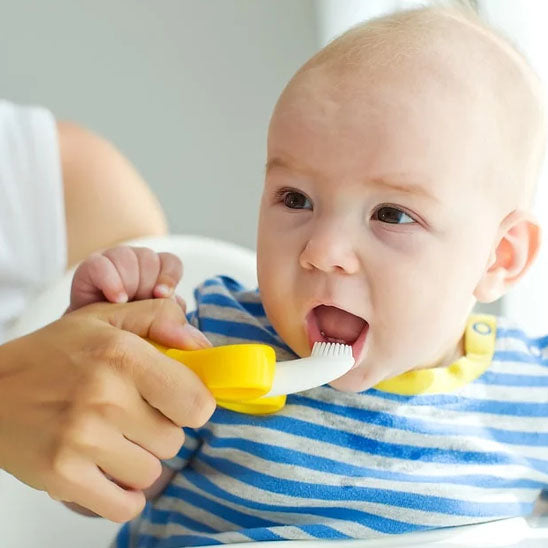
<path fill-rule="evenodd" d="M 204 279 L 226 274 L 246 286 L 257 283 L 255 254 L 243 247 L 201 236 L 172 235 L 129 242 L 156 251 L 170 251 L 184 264 L 177 288 L 191 310 L 193 288 Z M 10 331 L 17 337 L 34 331 L 61 316 L 68 305 L 74 269 L 39 295 Z M 108 546 L 119 525 L 75 514 L 41 493 L 0 472 L 1 548 L 101 548 Z M 246 543 L 234 548 L 389 548 L 414 547 L 510 547 L 547 548 L 548 515 L 531 519 L 512 518 L 481 525 L 438 529 L 369 541 L 287 541 Z"/>

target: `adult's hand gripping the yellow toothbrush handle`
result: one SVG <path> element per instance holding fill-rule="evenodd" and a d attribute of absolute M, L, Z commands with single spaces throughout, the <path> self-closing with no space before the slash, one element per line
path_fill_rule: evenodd
<path fill-rule="evenodd" d="M 200 379 L 141 337 L 207 346 L 170 299 L 99 303 L 0 347 L 0 467 L 113 521 L 177 454 L 182 426 L 215 402 Z"/>

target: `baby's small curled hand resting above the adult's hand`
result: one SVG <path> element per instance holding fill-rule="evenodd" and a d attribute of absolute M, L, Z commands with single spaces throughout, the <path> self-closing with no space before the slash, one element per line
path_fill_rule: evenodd
<path fill-rule="evenodd" d="M 124 303 L 176 298 L 175 286 L 183 265 L 172 253 L 156 253 L 146 247 L 120 246 L 90 255 L 74 273 L 67 312 L 91 303 L 110 301 Z"/>

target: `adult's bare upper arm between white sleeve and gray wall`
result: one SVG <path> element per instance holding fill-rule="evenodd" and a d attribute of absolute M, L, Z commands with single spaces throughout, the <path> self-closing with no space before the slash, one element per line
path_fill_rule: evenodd
<path fill-rule="evenodd" d="M 69 122 L 58 123 L 58 134 L 69 265 L 98 249 L 166 233 L 158 200 L 114 145 Z"/>

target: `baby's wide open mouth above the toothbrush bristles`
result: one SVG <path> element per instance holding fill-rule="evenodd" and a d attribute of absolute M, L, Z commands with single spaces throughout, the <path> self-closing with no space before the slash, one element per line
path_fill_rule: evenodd
<path fill-rule="evenodd" d="M 348 344 L 358 363 L 369 329 L 363 318 L 342 308 L 322 304 L 309 312 L 306 326 L 310 348 L 315 342 Z"/>

